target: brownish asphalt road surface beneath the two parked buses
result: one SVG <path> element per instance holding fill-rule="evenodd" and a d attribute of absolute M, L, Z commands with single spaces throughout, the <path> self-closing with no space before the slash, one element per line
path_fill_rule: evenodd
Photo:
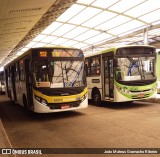
<path fill-rule="evenodd" d="M 104 103 L 77 111 L 29 114 L 3 95 L 0 118 L 13 148 L 160 148 L 160 104 Z"/>

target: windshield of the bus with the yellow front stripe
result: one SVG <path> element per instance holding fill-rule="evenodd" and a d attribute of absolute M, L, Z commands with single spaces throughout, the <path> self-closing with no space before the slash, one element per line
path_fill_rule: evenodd
<path fill-rule="evenodd" d="M 39 87 L 64 88 L 86 85 L 84 61 L 35 61 L 34 76 Z"/>

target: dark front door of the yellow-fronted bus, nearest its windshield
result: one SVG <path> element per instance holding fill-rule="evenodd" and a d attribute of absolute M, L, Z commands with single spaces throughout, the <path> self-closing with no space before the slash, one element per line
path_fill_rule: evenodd
<path fill-rule="evenodd" d="M 25 59 L 25 80 L 26 80 L 26 91 L 27 91 L 27 106 L 31 108 L 33 106 L 33 92 L 32 92 L 32 76 L 31 76 L 31 65 L 30 60 Z"/>

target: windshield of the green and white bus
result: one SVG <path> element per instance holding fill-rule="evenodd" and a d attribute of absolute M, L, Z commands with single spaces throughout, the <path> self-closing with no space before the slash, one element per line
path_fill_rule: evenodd
<path fill-rule="evenodd" d="M 152 80 L 155 78 L 155 57 L 117 58 L 116 80 L 135 81 Z"/>

